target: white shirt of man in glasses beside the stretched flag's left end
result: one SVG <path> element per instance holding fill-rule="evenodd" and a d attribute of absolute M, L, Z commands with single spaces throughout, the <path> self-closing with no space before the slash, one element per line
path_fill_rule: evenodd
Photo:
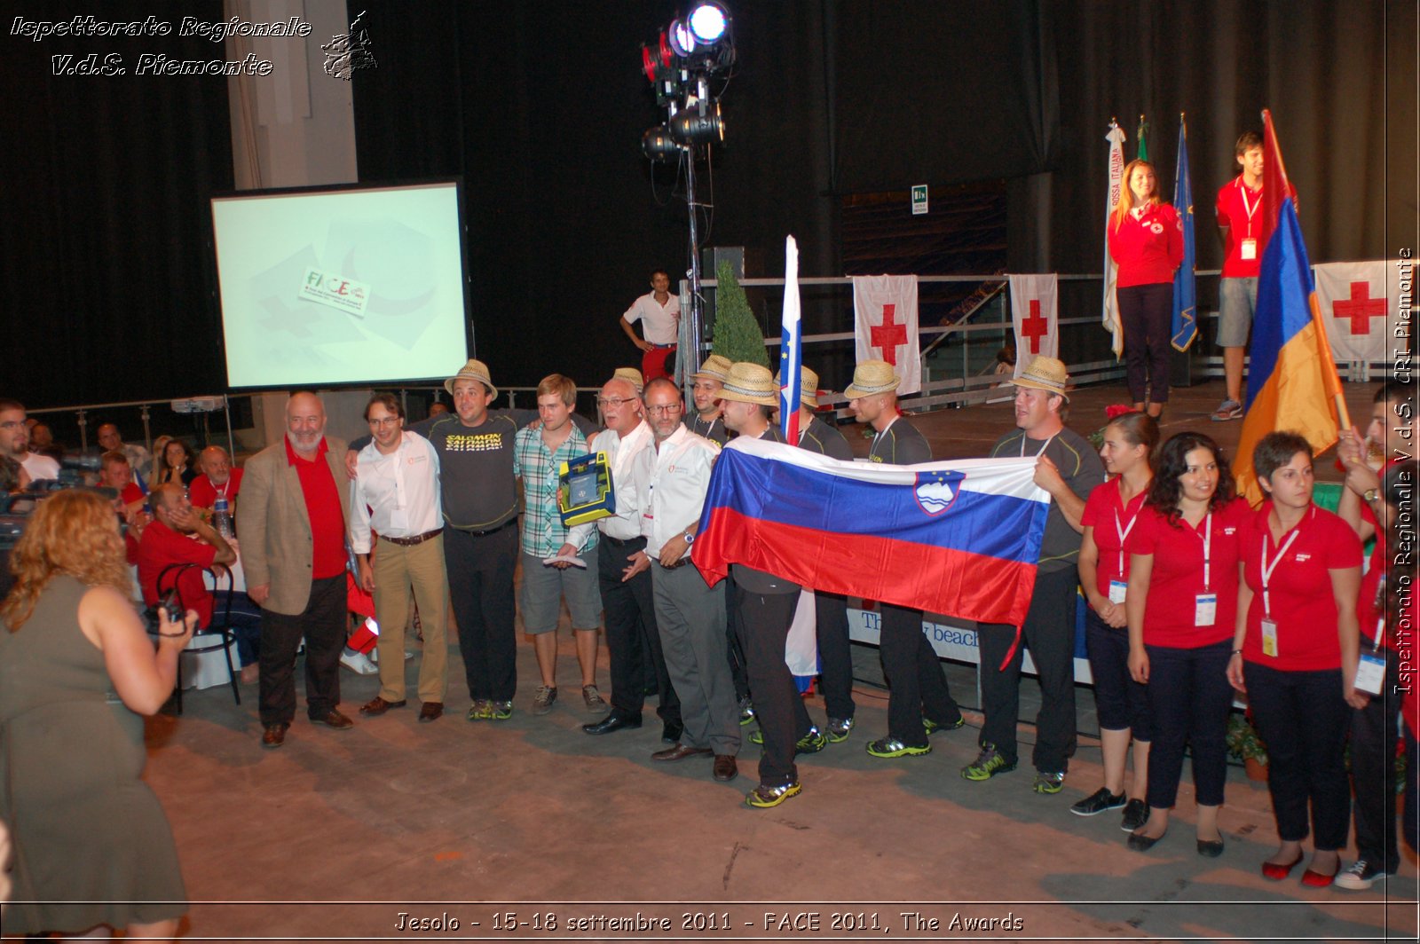
<path fill-rule="evenodd" d="M 660 556 L 660 548 L 677 534 L 700 521 L 710 470 L 720 447 L 696 436 L 682 423 L 657 449 L 655 444 L 636 456 L 633 474 L 640 498 L 640 532 L 646 538 L 646 556 Z"/>

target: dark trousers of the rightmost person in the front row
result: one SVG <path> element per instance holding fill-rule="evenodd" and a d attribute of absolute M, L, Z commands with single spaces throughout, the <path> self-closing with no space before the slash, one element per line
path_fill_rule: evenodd
<path fill-rule="evenodd" d="M 1370 652 L 1369 646 L 1365 649 Z M 1350 784 L 1356 794 L 1356 857 L 1386 872 L 1400 865 L 1396 843 L 1396 742 L 1400 740 L 1400 660 L 1389 649 L 1382 694 L 1350 713 Z M 1414 754 L 1407 754 L 1413 759 Z M 1414 764 L 1406 764 L 1413 768 Z"/>

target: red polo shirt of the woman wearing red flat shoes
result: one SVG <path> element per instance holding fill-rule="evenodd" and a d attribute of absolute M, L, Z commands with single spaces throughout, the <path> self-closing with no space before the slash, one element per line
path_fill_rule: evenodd
<path fill-rule="evenodd" d="M 1359 568 L 1360 539 L 1345 521 L 1312 505 L 1281 541 L 1272 541 L 1267 522 L 1271 510 L 1271 503 L 1262 503 L 1242 538 L 1242 579 L 1252 589 L 1242 659 L 1282 671 L 1340 669 L 1329 571 Z M 1264 556 L 1272 571 L 1265 599 Z M 1264 616 L 1277 623 L 1277 656 L 1262 650 Z"/>

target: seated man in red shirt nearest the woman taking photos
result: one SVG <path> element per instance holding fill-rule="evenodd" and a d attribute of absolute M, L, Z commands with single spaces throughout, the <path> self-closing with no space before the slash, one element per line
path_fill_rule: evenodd
<path fill-rule="evenodd" d="M 143 537 L 138 542 L 138 582 L 142 585 L 143 602 L 153 606 L 159 598 L 158 578 L 169 565 L 227 565 L 237 559 L 237 551 L 193 511 L 187 493 L 178 483 L 153 488 L 151 501 L 153 521 L 143 528 Z M 172 585 L 172 576 L 165 579 L 165 589 Z M 178 578 L 176 585 L 183 608 L 197 612 L 197 625 L 212 626 L 214 600 L 203 583 L 202 572 L 186 571 Z M 258 616 L 239 610 L 237 600 L 233 599 L 231 627 L 243 666 L 241 681 L 247 684 L 256 681 L 257 676 L 258 622 Z"/>

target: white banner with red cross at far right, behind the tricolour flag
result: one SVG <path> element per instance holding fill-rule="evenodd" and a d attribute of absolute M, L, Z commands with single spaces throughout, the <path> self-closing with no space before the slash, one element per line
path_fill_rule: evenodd
<path fill-rule="evenodd" d="M 1389 298 L 1400 295 L 1400 267 L 1383 260 L 1369 263 L 1323 263 L 1315 265 L 1316 305 L 1326 322 L 1326 339 L 1339 363 L 1349 361 L 1386 361 L 1390 344 L 1386 334 L 1386 282 Z"/>

